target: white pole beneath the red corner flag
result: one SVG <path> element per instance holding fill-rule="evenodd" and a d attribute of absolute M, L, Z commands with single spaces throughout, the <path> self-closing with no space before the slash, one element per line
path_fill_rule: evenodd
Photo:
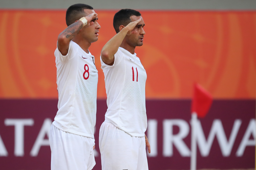
<path fill-rule="evenodd" d="M 196 170 L 196 121 L 197 114 L 191 114 L 191 153 L 190 153 L 190 170 Z"/>

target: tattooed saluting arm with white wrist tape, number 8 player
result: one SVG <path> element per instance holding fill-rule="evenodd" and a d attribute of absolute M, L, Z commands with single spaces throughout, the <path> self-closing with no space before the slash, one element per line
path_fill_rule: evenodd
<path fill-rule="evenodd" d="M 78 32 L 84 26 L 90 26 L 93 24 L 94 19 L 97 18 L 96 13 L 91 13 L 85 17 L 82 17 L 75 23 L 68 26 L 64 31 L 58 36 L 57 47 L 62 55 L 68 54 L 69 42 L 78 34 Z"/>

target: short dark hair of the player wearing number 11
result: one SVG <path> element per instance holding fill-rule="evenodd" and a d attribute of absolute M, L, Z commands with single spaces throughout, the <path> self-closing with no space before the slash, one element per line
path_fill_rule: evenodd
<path fill-rule="evenodd" d="M 127 26 L 132 20 L 131 16 L 135 15 L 136 17 L 141 16 L 139 11 L 135 11 L 132 9 L 122 9 L 116 12 L 113 19 L 113 26 L 116 30 L 116 33 L 119 33 L 119 26 Z"/>

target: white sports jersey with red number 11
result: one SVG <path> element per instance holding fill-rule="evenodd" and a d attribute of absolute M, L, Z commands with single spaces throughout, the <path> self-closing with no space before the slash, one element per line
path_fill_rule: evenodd
<path fill-rule="evenodd" d="M 108 110 L 105 121 L 135 137 L 145 136 L 147 115 L 145 105 L 146 70 L 136 53 L 119 47 L 112 66 L 101 57 L 105 76 Z"/>

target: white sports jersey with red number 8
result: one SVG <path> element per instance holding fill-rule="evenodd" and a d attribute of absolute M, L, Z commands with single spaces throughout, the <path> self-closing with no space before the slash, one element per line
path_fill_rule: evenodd
<path fill-rule="evenodd" d="M 68 54 L 54 52 L 59 92 L 53 125 L 60 130 L 94 138 L 98 70 L 94 56 L 70 41 Z"/>

